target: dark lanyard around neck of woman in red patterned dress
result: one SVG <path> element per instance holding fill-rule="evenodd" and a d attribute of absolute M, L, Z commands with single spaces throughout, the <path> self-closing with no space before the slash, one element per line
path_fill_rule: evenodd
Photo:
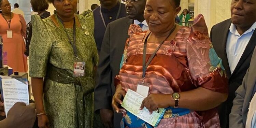
<path fill-rule="evenodd" d="M 174 24 L 173 28 L 170 31 L 170 34 L 166 37 L 166 39 L 172 34 L 172 32 L 175 30 L 176 28 L 176 24 Z M 150 32 L 151 33 L 151 32 Z M 146 63 L 146 51 L 147 51 L 147 39 L 150 35 L 150 33 L 147 35 L 145 42 L 144 42 L 144 48 L 143 48 L 143 67 L 142 67 L 142 80 L 143 80 L 143 84 L 144 84 L 144 79 L 145 79 L 145 75 L 146 75 L 146 70 L 148 65 L 150 64 L 150 62 L 153 60 L 153 58 L 156 55 L 156 52 L 159 50 L 159 48 L 162 46 L 163 42 L 165 42 L 165 40 L 163 40 L 159 46 L 156 48 L 155 52 L 150 56 L 150 58 L 148 59 L 147 63 Z"/>

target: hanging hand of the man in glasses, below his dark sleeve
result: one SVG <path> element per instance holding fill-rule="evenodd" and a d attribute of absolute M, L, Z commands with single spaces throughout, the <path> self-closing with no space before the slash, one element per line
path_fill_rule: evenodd
<path fill-rule="evenodd" d="M 109 110 L 109 109 L 100 110 L 100 118 L 105 128 L 113 128 L 113 117 L 114 117 L 114 112 L 112 110 Z"/>

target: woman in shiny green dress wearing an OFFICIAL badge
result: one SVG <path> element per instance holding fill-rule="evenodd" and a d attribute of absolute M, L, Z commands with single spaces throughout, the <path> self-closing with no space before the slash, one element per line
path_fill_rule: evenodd
<path fill-rule="evenodd" d="M 30 77 L 40 128 L 93 127 L 98 53 L 92 12 L 75 15 L 77 0 L 48 0 L 56 14 L 31 17 Z"/>

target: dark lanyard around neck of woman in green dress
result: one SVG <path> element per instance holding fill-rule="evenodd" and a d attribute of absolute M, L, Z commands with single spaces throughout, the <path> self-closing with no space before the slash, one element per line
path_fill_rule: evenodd
<path fill-rule="evenodd" d="M 58 17 L 58 16 L 57 16 Z M 60 23 L 63 25 L 63 27 L 64 27 L 64 23 L 63 23 L 63 20 L 62 19 L 60 19 L 59 17 L 58 17 L 58 19 L 59 19 L 59 21 L 60 21 Z M 78 55 L 77 55 L 77 51 L 76 51 L 76 46 L 75 46 L 75 42 L 76 42 L 76 27 L 75 27 L 75 17 L 74 17 L 74 24 L 73 24 L 73 42 L 71 41 L 71 39 L 70 39 L 70 37 L 69 37 L 69 35 L 68 35 L 68 32 L 66 31 L 66 29 L 65 29 L 65 27 L 64 27 L 64 31 L 66 32 L 66 34 L 67 34 L 67 37 L 68 37 L 68 39 L 69 39 L 69 43 L 72 45 L 72 47 L 73 47 L 73 51 L 74 51 L 74 54 L 75 54 L 75 58 L 77 58 L 77 59 L 80 59 L 80 58 L 78 58 Z"/>

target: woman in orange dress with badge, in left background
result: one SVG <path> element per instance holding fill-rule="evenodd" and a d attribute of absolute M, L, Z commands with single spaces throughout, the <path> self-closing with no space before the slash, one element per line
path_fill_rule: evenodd
<path fill-rule="evenodd" d="M 0 0 L 0 11 L 0 35 L 3 38 L 3 51 L 7 52 L 7 65 L 13 68 L 14 72 L 27 72 L 23 39 L 26 37 L 26 21 L 22 15 L 11 12 L 8 0 Z"/>

